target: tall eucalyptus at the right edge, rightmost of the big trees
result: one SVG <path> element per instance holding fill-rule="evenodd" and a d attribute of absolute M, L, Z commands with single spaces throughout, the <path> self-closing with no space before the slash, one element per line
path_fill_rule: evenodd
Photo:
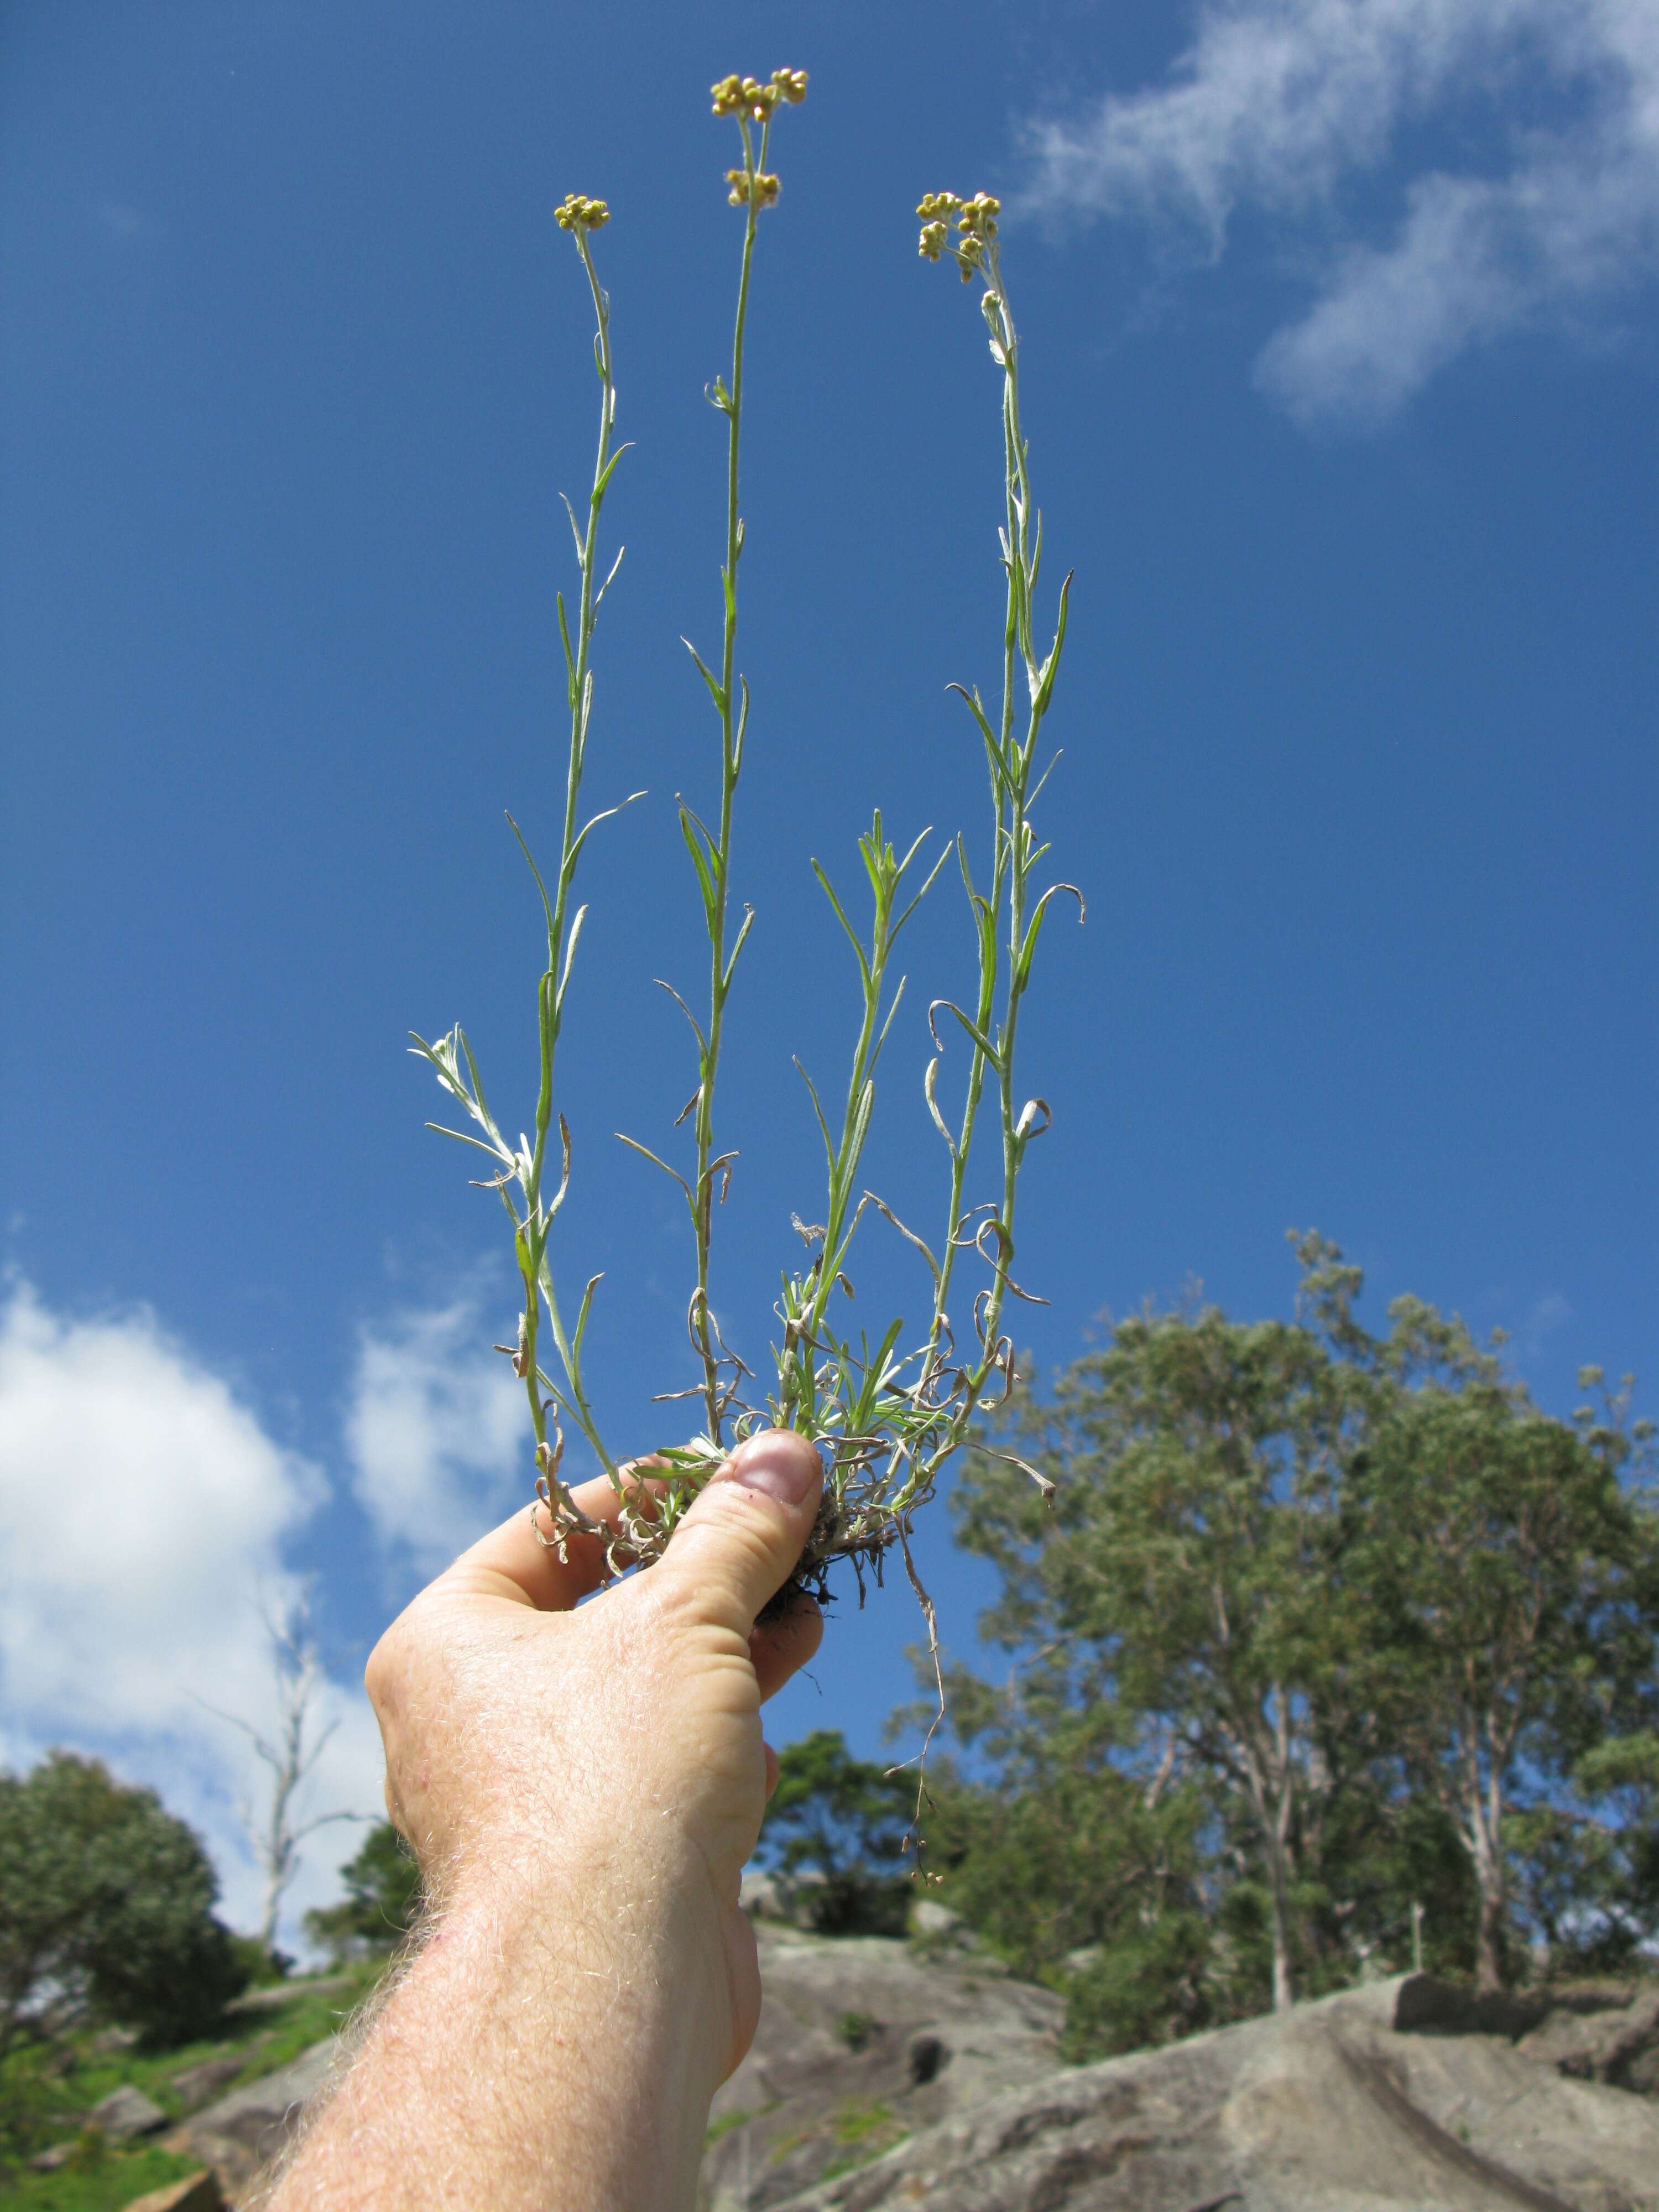
<path fill-rule="evenodd" d="M 1626 1478 L 1650 1427 L 1617 1402 L 1613 1418 L 1542 1413 L 1460 1321 L 1418 1301 L 1396 1305 L 1371 1367 L 1380 1389 L 1345 1500 L 1349 1568 L 1378 1624 L 1371 1697 L 1407 1783 L 1455 1825 L 1478 1984 L 1498 1989 L 1515 1860 L 1548 1931 L 1590 1905 L 1597 1865 L 1628 1856 L 1619 1823 L 1575 1798 L 1628 1785 L 1652 1741 L 1632 1730 L 1657 1657 L 1655 1515 Z"/>

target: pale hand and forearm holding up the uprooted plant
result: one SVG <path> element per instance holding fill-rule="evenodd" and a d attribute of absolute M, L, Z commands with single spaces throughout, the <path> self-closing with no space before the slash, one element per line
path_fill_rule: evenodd
<path fill-rule="evenodd" d="M 599 1546 L 562 1562 L 518 1515 L 392 1624 L 367 1688 L 431 1924 L 268 2212 L 688 2212 L 761 2011 L 761 1703 L 823 1635 L 812 1599 L 754 1617 L 818 1489 L 765 1431 L 593 1604 Z M 575 1495 L 615 1513 L 604 1480 Z"/>

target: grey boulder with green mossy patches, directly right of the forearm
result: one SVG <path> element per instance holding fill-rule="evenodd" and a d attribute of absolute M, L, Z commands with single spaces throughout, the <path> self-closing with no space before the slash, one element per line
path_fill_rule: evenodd
<path fill-rule="evenodd" d="M 1055 2073 L 1064 2004 L 973 1951 L 759 1927 L 761 2024 L 714 2099 L 706 2212 L 783 2203 Z"/>

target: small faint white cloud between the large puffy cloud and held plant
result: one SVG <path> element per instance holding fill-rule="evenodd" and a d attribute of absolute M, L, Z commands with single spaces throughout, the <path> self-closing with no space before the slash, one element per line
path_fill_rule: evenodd
<path fill-rule="evenodd" d="M 447 1566 L 529 1495 L 524 1385 L 473 1298 L 398 1314 L 358 1340 L 345 1442 L 352 1489 L 387 1551 Z"/>

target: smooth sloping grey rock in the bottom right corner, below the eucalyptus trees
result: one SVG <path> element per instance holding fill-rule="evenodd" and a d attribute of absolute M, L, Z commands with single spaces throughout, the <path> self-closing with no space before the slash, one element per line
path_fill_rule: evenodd
<path fill-rule="evenodd" d="M 1659 2104 L 1460 2031 L 1425 1975 L 1048 2073 L 790 2212 L 1659 2212 Z M 1402 2026 L 1411 2022 L 1411 2026 Z M 741 2199 L 734 2199 L 741 2203 Z"/>

